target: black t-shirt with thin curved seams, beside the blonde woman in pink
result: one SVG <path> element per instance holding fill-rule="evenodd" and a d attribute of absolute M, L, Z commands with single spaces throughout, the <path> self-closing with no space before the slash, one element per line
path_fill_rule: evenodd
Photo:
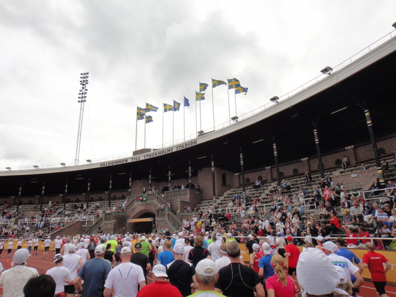
<path fill-rule="evenodd" d="M 258 274 L 241 263 L 231 263 L 219 270 L 215 288 L 227 297 L 254 297 L 253 288 L 261 283 Z"/>

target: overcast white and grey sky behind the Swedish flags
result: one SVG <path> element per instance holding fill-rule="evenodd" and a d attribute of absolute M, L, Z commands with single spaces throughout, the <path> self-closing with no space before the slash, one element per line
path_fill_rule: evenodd
<path fill-rule="evenodd" d="M 0 170 L 74 161 L 81 72 L 90 73 L 85 163 L 135 150 L 137 105 L 159 107 L 146 148 L 162 146 L 162 130 L 164 144 L 213 130 L 210 87 L 196 122 L 198 82 L 239 79 L 241 117 L 391 32 L 395 11 L 394 0 L 1 1 Z M 162 129 L 162 102 L 183 106 L 183 96 L 185 116 L 165 113 Z M 213 89 L 216 126 L 228 123 L 228 106 L 235 115 L 229 97 Z M 137 128 L 140 149 L 143 120 Z"/>

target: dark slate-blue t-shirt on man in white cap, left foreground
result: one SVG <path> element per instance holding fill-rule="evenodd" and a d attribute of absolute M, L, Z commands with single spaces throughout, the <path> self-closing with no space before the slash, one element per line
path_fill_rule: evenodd
<path fill-rule="evenodd" d="M 110 262 L 100 258 L 93 258 L 84 263 L 78 276 L 84 279 L 83 296 L 103 296 L 104 280 L 111 271 Z"/>

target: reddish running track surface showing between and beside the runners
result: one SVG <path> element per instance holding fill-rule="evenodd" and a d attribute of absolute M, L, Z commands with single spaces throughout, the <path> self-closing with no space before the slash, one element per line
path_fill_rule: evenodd
<path fill-rule="evenodd" d="M 4 250 L 5 251 L 5 250 Z M 15 250 L 12 250 L 10 257 L 7 258 L 7 253 L 3 252 L 0 257 L 0 262 L 5 269 L 10 268 L 10 264 L 12 262 L 12 255 L 14 254 Z M 46 271 L 54 266 L 53 264 L 53 251 L 49 251 L 49 257 L 47 259 L 43 259 L 43 250 L 38 251 L 38 255 L 31 255 L 27 261 L 27 266 L 34 267 L 37 269 L 39 274 L 45 274 Z M 148 283 L 152 282 L 151 274 L 148 274 Z M 386 287 L 386 292 L 389 297 L 396 297 L 396 287 L 388 285 Z M 371 282 L 364 282 L 363 285 L 360 287 L 360 293 L 356 295 L 357 297 L 372 297 L 377 296 L 374 285 Z M 2 288 L 0 287 L 0 297 L 2 297 Z"/>

